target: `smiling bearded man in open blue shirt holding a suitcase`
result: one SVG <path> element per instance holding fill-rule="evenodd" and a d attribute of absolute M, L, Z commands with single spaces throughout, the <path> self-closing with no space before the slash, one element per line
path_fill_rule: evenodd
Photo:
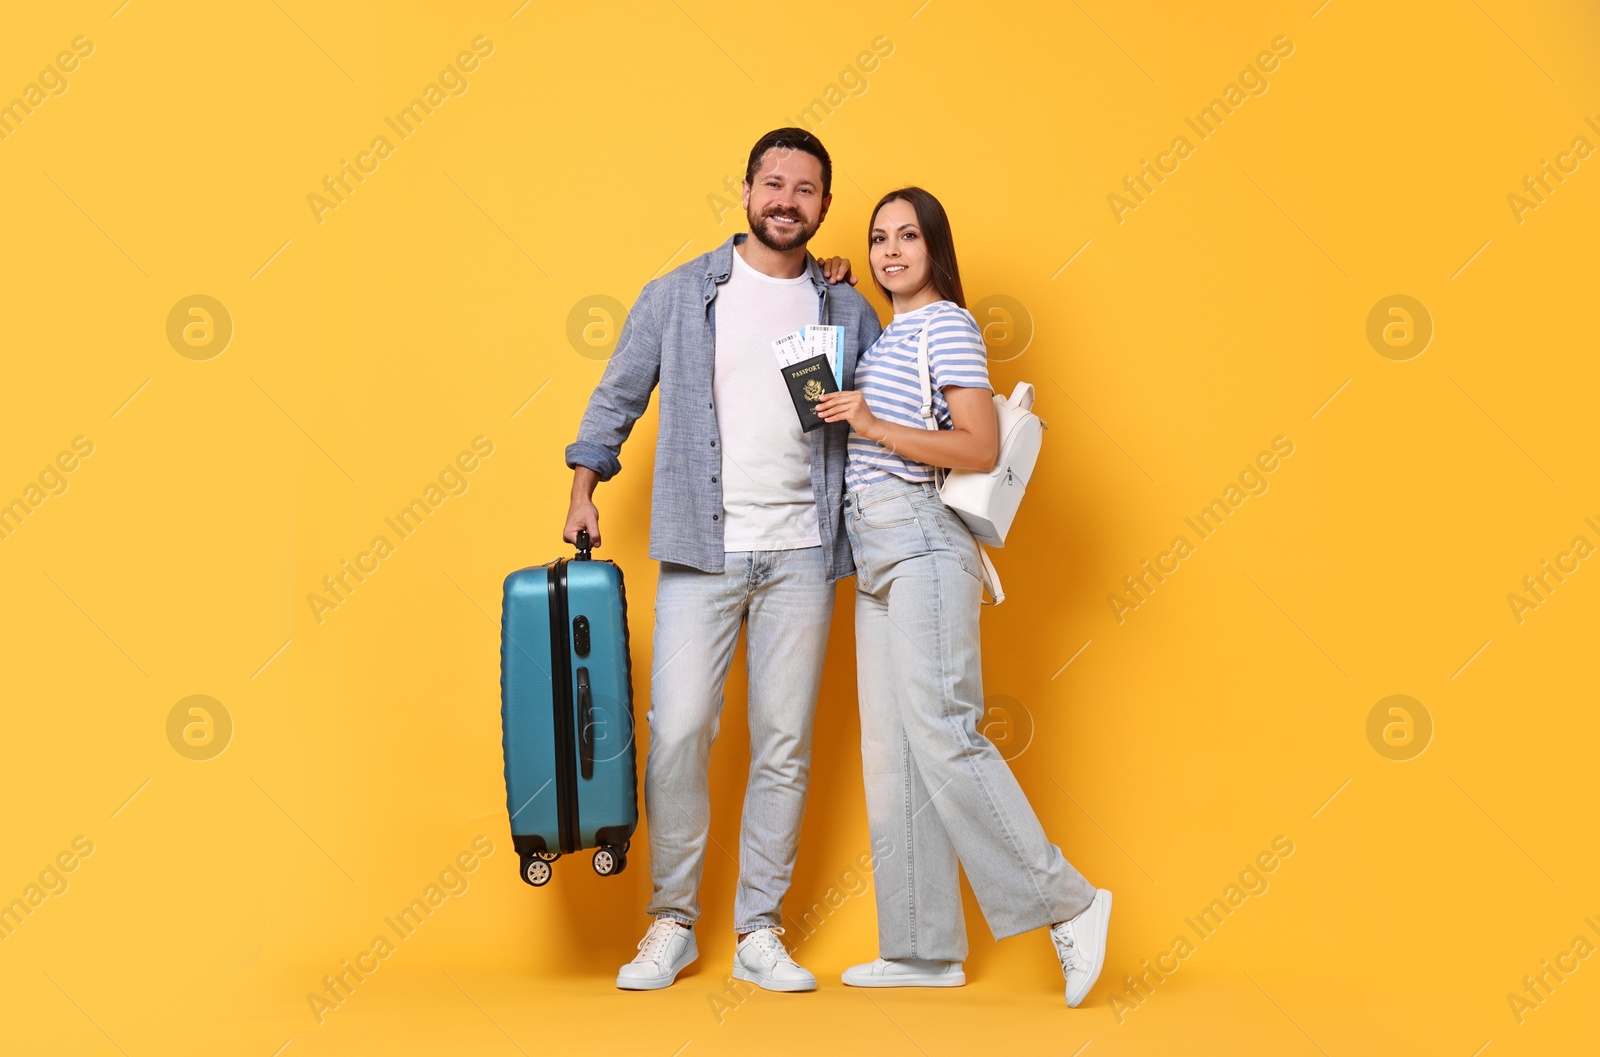
<path fill-rule="evenodd" d="M 778 935 L 811 769 L 811 720 L 834 611 L 851 576 L 842 518 L 848 427 L 803 433 L 771 342 L 808 325 L 842 326 L 840 387 L 877 339 L 877 315 L 830 288 L 806 253 L 832 201 L 832 162 L 811 133 L 762 136 L 744 173 L 749 238 L 645 286 L 566 448 L 573 494 L 565 539 L 600 544 L 598 481 L 661 387 L 650 556 L 656 587 L 645 811 L 654 918 L 626 990 L 669 987 L 698 956 L 699 881 L 710 835 L 707 768 L 739 627 L 749 668 L 750 777 L 739 835 L 733 975 L 774 991 L 816 977 Z M 837 272 L 830 262 L 829 272 Z"/>

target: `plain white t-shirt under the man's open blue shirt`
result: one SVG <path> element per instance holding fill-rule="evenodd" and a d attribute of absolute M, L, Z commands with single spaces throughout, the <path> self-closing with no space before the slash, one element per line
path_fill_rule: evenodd
<path fill-rule="evenodd" d="M 773 278 L 739 249 L 717 291 L 712 401 L 722 435 L 723 550 L 821 547 L 811 437 L 800 432 L 773 341 L 816 318 L 810 277 Z"/>

